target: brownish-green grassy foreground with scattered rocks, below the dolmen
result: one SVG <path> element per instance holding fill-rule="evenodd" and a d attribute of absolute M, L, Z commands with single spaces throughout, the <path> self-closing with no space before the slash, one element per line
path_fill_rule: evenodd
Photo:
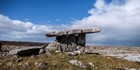
<path fill-rule="evenodd" d="M 139 62 L 131 62 L 111 56 L 67 53 L 45 53 L 28 57 L 8 56 L 0 58 L 1 70 L 138 70 Z"/>

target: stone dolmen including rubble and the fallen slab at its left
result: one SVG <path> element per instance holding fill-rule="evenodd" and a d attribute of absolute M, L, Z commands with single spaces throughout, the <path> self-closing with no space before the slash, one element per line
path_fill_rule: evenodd
<path fill-rule="evenodd" d="M 64 31 L 53 31 L 46 33 L 47 37 L 56 37 L 56 40 L 43 47 L 23 47 L 10 50 L 10 55 L 30 56 L 50 52 L 70 52 L 70 55 L 76 55 L 84 52 L 86 34 L 98 33 L 100 28 L 92 29 L 72 29 Z"/>

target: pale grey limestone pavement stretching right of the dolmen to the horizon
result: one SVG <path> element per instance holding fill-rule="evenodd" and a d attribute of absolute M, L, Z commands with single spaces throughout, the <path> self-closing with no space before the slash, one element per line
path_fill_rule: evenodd
<path fill-rule="evenodd" d="M 140 47 L 87 47 L 88 53 L 99 53 L 104 56 L 113 56 L 128 61 L 140 62 Z"/>

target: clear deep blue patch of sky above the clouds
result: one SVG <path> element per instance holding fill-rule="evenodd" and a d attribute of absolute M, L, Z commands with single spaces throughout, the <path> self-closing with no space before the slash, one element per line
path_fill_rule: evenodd
<path fill-rule="evenodd" d="M 37 24 L 65 24 L 88 16 L 95 0 L 1 0 L 0 13 Z"/>

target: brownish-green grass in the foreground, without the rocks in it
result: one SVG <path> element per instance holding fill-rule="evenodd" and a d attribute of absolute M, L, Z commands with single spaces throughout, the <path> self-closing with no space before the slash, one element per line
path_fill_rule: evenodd
<path fill-rule="evenodd" d="M 78 56 L 69 56 L 66 53 L 53 53 L 51 56 L 45 54 L 37 55 L 34 58 L 21 57 L 21 62 L 15 62 L 16 58 L 12 56 L 10 58 L 0 58 L 1 70 L 21 70 L 19 65 L 29 63 L 29 66 L 23 70 L 38 70 L 35 66 L 35 62 L 47 62 L 48 70 L 117 70 L 117 68 L 140 68 L 139 62 L 130 62 L 127 60 L 118 59 L 115 57 L 107 57 L 96 54 L 83 54 Z M 71 65 L 69 60 L 78 60 L 85 64 L 92 62 L 94 67 L 88 65 L 87 68 L 80 68 L 78 66 Z M 12 62 L 12 66 L 7 63 Z"/>

